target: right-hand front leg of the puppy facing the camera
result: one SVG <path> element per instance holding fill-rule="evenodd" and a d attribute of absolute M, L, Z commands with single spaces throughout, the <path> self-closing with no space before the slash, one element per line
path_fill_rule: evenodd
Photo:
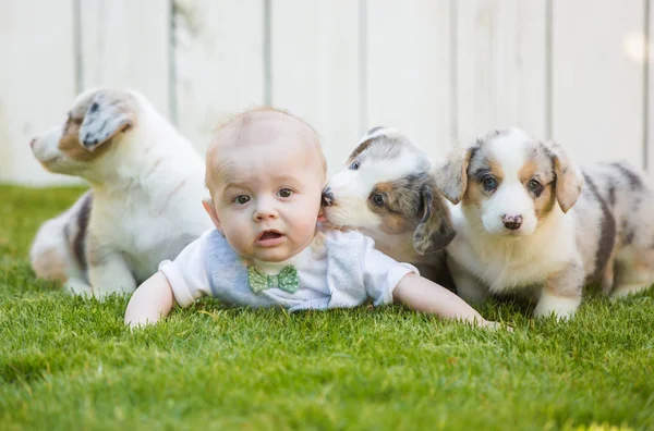
<path fill-rule="evenodd" d="M 559 319 L 571 318 L 581 304 L 583 282 L 583 267 L 579 262 L 572 262 L 548 278 L 534 309 L 534 317 L 554 313 Z"/>

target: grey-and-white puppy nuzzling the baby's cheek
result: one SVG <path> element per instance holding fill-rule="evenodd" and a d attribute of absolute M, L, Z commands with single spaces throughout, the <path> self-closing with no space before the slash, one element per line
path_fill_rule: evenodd
<path fill-rule="evenodd" d="M 453 238 L 447 202 L 436 189 L 425 152 L 400 132 L 374 127 L 334 175 L 325 192 L 325 218 L 355 229 L 375 247 L 451 286 L 440 250 Z"/>

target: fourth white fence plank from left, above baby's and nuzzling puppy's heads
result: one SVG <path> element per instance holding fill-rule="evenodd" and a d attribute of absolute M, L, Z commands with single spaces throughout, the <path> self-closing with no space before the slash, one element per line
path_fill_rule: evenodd
<path fill-rule="evenodd" d="M 276 0 L 270 28 L 272 104 L 318 131 L 337 172 L 361 137 L 358 3 Z"/>

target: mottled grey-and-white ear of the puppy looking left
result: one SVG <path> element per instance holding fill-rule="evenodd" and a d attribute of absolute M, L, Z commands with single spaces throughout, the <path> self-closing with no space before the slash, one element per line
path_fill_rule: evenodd
<path fill-rule="evenodd" d="M 136 121 L 136 102 L 122 91 L 99 90 L 88 104 L 80 127 L 80 144 L 95 150 Z"/>

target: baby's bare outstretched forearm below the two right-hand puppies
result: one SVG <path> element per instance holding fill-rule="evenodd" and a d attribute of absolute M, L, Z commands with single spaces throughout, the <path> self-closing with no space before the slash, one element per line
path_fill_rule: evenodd
<path fill-rule="evenodd" d="M 474 308 L 447 288 L 417 274 L 409 273 L 396 286 L 393 301 L 416 311 L 431 312 L 446 319 L 469 321 L 480 327 L 497 323 L 484 319 Z"/>

